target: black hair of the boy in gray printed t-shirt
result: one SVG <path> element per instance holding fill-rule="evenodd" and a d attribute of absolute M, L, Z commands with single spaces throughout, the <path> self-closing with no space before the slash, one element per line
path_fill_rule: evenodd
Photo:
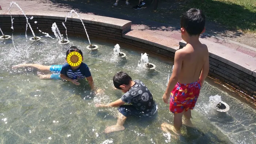
<path fill-rule="evenodd" d="M 128 85 L 132 81 L 132 78 L 125 72 L 118 72 L 113 77 L 114 87 L 121 90 L 122 84 Z"/>

